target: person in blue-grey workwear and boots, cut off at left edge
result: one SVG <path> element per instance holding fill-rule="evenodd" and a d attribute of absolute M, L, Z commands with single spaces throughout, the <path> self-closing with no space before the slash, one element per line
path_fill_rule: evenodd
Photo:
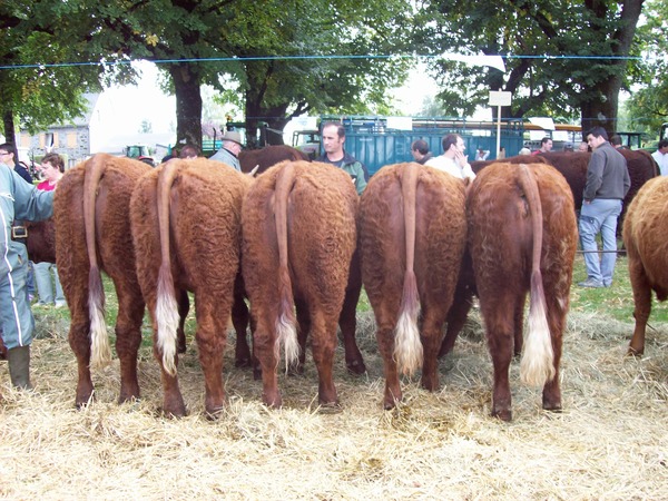
<path fill-rule="evenodd" d="M 31 389 L 30 344 L 35 318 L 26 296 L 28 252 L 23 244 L 12 240 L 14 219 L 42 220 L 53 213 L 55 191 L 40 191 L 26 183 L 0 156 L 0 327 L 11 383 Z"/>

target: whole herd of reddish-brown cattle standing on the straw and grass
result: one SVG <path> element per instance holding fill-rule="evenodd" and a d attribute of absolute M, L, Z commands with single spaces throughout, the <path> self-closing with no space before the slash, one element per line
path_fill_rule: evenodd
<path fill-rule="evenodd" d="M 111 356 L 105 272 L 118 298 L 119 402 L 139 397 L 137 354 L 148 307 L 163 411 L 185 415 L 177 366 L 186 350 L 190 292 L 209 415 L 225 405 L 223 353 L 230 316 L 235 365 L 262 376 L 265 404 L 282 404 L 282 351 L 286 371 L 301 373 L 308 337 L 318 401 L 336 404 L 337 325 L 346 366 L 356 374 L 366 371 L 355 342 L 364 286 L 384 362 L 385 409 L 402 399 L 400 373 L 422 369 L 422 386 L 439 387 L 438 358 L 453 348 L 473 295 L 493 362 L 492 414 L 512 416 L 509 366 L 519 354 L 522 380 L 543 387 L 543 407 L 561 409 L 561 337 L 589 154 L 475 163 L 478 177 L 470 184 L 397 164 L 376 173 L 357 197 L 343 170 L 299 159 L 295 151 L 268 147 L 254 154 L 243 169 L 261 166 L 256 178 L 207 159 L 174 159 L 151 169 L 104 154 L 66 173 L 53 220 L 31 225 L 28 250 L 35 261 L 58 264 L 71 314 L 78 406 L 92 397 L 91 366 Z M 661 301 L 668 296 L 668 239 L 661 238 L 668 234 L 668 179 L 647 183 L 657 176 L 651 157 L 623 155 L 631 177 L 627 205 L 638 194 L 623 223 L 636 301 L 629 352 L 642 354 L 651 291 Z"/>

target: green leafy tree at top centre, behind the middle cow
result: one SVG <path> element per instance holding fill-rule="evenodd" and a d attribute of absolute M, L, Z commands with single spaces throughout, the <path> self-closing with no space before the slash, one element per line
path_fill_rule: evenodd
<path fill-rule="evenodd" d="M 259 16 L 247 3 L 236 22 L 244 43 L 233 48 L 245 59 L 247 140 L 264 121 L 266 140 L 282 144 L 285 125 L 308 111 L 386 111 L 386 90 L 403 81 L 407 62 L 373 56 L 407 49 L 410 7 L 404 0 L 267 1 L 262 10 L 269 16 Z M 256 59 L 274 53 L 283 58 Z"/>

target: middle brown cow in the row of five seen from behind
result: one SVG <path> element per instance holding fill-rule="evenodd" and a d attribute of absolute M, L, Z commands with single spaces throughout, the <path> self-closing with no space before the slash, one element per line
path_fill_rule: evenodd
<path fill-rule="evenodd" d="M 281 345 L 286 365 L 295 366 L 308 334 L 320 376 L 318 401 L 337 403 L 332 362 L 355 250 L 356 210 L 350 176 L 320 163 L 281 163 L 256 179 L 244 200 L 243 274 L 267 405 L 282 405 L 276 375 Z"/>

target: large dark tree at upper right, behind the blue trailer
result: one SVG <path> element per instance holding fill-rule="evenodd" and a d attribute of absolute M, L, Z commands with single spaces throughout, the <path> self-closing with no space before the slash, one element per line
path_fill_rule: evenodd
<path fill-rule="evenodd" d="M 470 112 L 489 90 L 513 94 L 509 117 L 580 116 L 583 129 L 616 129 L 618 95 L 642 0 L 495 0 L 430 2 L 422 43 L 432 53 L 501 55 L 505 73 L 439 61 L 446 108 Z M 547 55 L 548 57 L 544 57 Z"/>

